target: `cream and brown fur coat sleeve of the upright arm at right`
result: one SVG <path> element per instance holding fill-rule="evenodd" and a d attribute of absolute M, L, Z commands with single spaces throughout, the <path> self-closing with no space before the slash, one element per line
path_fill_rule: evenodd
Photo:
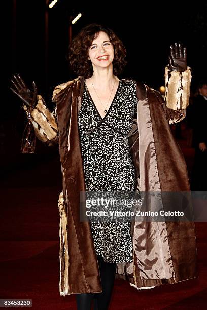
<path fill-rule="evenodd" d="M 182 121 L 190 98 L 191 68 L 184 72 L 170 71 L 165 67 L 165 96 L 156 92 L 169 124 Z"/>

